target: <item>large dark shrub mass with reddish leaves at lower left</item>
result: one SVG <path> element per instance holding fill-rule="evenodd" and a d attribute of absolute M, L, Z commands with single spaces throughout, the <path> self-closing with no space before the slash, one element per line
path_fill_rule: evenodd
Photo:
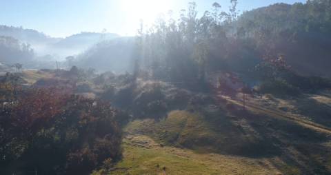
<path fill-rule="evenodd" d="M 121 158 L 117 114 L 109 103 L 54 88 L 27 90 L 1 111 L 0 174 L 90 174 L 114 163 Z"/>

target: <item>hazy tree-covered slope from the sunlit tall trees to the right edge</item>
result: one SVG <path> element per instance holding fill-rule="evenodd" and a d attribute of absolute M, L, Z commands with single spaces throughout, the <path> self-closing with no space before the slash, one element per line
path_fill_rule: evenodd
<path fill-rule="evenodd" d="M 263 70 L 263 79 L 270 81 L 278 78 L 278 74 L 288 74 L 290 65 L 299 73 L 309 74 L 310 69 L 312 74 L 319 73 L 310 68 L 309 64 L 314 64 L 312 57 L 317 57 L 316 65 L 325 72 L 323 61 L 330 57 L 327 53 L 330 1 L 277 3 L 244 12 L 240 17 L 237 1 L 231 3 L 230 13 L 221 11 L 219 4 L 214 3 L 212 11 L 206 11 L 200 18 L 197 4 L 190 3 L 178 20 L 170 15 L 168 19 L 158 19 L 149 30 L 141 28 L 137 37 L 139 68 L 146 70 L 150 79 L 199 85 L 207 81 L 208 74 L 219 70 L 247 76 L 248 70 L 263 60 L 270 63 Z M 301 64 L 303 61 L 308 65 Z M 274 66 L 277 70 L 273 70 Z M 297 88 L 312 86 L 282 79 Z"/>

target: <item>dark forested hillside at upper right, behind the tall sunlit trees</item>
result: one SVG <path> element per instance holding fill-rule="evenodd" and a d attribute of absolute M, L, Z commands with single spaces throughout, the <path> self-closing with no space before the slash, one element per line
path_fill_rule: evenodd
<path fill-rule="evenodd" d="M 285 56 L 300 74 L 330 77 L 330 9 L 330 1 L 258 8 L 239 17 L 237 35 L 256 42 L 262 56 Z"/>

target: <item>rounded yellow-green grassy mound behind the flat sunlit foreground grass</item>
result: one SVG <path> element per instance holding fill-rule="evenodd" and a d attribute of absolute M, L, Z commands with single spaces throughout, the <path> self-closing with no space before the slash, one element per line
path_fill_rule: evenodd
<path fill-rule="evenodd" d="M 144 132 L 156 138 L 163 144 L 185 144 L 188 140 L 214 138 L 217 134 L 208 127 L 208 124 L 198 114 L 189 112 L 174 111 L 167 119 L 156 122 L 154 120 L 134 121 L 126 132 Z M 194 138 L 192 138 L 194 137 Z"/>

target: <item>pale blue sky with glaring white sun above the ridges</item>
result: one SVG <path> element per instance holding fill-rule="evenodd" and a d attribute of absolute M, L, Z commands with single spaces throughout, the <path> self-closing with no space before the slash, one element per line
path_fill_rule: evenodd
<path fill-rule="evenodd" d="M 22 26 L 51 37 L 68 37 L 80 32 L 112 32 L 134 35 L 140 19 L 151 24 L 160 13 L 174 15 L 194 0 L 0 0 L 0 25 Z M 214 2 L 228 10 L 230 0 L 195 0 L 197 10 L 210 10 Z M 273 3 L 306 0 L 239 0 L 243 12 Z"/>

